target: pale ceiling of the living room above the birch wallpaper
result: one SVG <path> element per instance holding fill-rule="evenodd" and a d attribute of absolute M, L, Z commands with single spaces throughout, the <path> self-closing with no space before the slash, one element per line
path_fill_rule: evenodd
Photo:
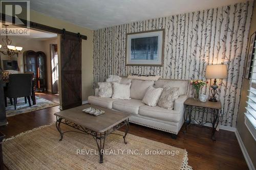
<path fill-rule="evenodd" d="M 246 0 L 33 0 L 31 9 L 92 30 Z"/>

